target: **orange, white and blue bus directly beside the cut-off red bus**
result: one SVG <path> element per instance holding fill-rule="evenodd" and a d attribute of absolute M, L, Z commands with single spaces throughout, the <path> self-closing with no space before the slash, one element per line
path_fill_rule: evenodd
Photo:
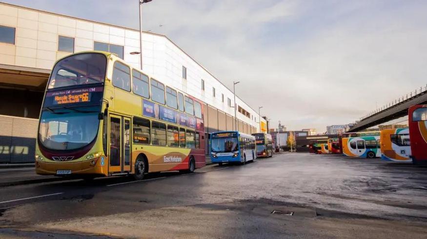
<path fill-rule="evenodd" d="M 381 130 L 381 159 L 395 162 L 412 162 L 409 129 Z"/>

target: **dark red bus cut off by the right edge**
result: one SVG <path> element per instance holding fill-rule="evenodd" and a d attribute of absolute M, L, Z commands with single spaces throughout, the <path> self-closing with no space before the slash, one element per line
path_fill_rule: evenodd
<path fill-rule="evenodd" d="M 408 121 L 412 163 L 427 164 L 427 105 L 409 107 Z"/>

